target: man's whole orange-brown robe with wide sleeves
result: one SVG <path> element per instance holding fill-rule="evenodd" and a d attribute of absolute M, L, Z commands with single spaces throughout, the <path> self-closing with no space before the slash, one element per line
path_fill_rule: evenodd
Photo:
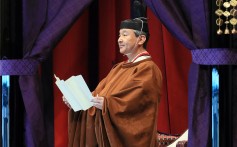
<path fill-rule="evenodd" d="M 103 110 L 69 111 L 69 147 L 157 146 L 157 113 L 162 74 L 149 58 L 113 67 L 93 95 Z"/>

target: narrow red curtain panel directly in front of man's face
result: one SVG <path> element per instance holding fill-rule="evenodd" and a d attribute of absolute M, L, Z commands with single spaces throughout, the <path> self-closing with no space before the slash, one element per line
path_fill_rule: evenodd
<path fill-rule="evenodd" d="M 130 1 L 99 1 L 99 79 L 122 60 L 117 44 L 120 21 L 130 18 Z"/>

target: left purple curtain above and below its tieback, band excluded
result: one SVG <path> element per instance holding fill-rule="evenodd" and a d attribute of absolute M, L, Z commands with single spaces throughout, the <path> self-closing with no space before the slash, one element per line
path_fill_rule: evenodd
<path fill-rule="evenodd" d="M 44 61 L 91 1 L 23 0 L 24 59 L 36 60 L 39 63 Z M 26 110 L 25 144 L 29 147 L 48 146 L 40 76 L 22 75 L 19 84 Z"/>

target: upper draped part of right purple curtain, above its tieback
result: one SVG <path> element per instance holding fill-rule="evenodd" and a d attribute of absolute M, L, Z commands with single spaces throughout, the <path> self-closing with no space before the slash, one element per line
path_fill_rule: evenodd
<path fill-rule="evenodd" d="M 208 46 L 205 1 L 145 0 L 146 4 L 161 20 L 166 28 L 188 49 Z"/>

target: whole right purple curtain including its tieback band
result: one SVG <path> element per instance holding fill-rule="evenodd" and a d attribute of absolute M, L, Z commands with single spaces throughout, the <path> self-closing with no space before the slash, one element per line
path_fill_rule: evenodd
<path fill-rule="evenodd" d="M 237 52 L 210 48 L 210 1 L 144 0 L 166 28 L 192 54 L 188 91 L 188 146 L 211 146 L 209 66 L 237 64 Z"/>

